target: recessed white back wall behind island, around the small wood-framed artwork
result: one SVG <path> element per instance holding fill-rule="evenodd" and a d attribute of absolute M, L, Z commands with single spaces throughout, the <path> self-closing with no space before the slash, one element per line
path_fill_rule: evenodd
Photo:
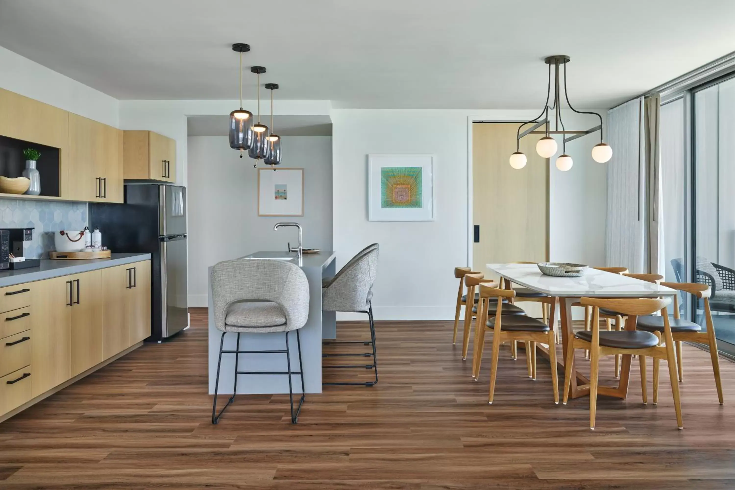
<path fill-rule="evenodd" d="M 293 228 L 273 231 L 279 221 L 304 227 L 305 248 L 331 250 L 331 145 L 329 136 L 283 137 L 286 166 L 304 168 L 304 216 L 259 217 L 253 160 L 240 159 L 227 137 L 189 137 L 189 306 L 207 306 L 207 267 L 294 245 Z"/>

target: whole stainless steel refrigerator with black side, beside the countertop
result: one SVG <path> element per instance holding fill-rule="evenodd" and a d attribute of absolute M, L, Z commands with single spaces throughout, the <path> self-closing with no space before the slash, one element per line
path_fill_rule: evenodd
<path fill-rule="evenodd" d="M 90 203 L 90 228 L 120 253 L 151 254 L 151 337 L 162 341 L 187 328 L 186 188 L 125 184 L 123 204 Z"/>

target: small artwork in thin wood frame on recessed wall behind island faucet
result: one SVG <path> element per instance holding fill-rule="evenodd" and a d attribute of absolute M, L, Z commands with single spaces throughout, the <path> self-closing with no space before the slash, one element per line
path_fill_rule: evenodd
<path fill-rule="evenodd" d="M 304 216 L 304 169 L 258 169 L 258 216 Z"/>

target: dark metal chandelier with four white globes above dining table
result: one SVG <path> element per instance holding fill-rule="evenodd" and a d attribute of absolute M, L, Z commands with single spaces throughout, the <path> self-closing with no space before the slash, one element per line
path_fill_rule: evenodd
<path fill-rule="evenodd" d="M 550 56 L 544 60 L 544 62 L 549 65 L 548 69 L 548 84 L 546 89 L 546 103 L 544 104 L 544 108 L 541 110 L 541 114 L 537 116 L 535 119 L 531 119 L 526 123 L 521 124 L 518 126 L 517 131 L 517 137 L 516 137 L 516 151 L 514 154 L 510 156 L 510 165 L 513 168 L 520 169 L 526 166 L 526 155 L 523 154 L 520 151 L 520 140 L 521 138 L 525 137 L 528 134 L 543 134 L 544 137 L 542 137 L 538 142 L 536 143 L 536 152 L 541 156 L 542 158 L 551 158 L 556 154 L 556 151 L 559 149 L 558 145 L 556 143 L 556 140 L 553 139 L 553 137 L 549 136 L 550 134 L 562 134 L 562 155 L 559 156 L 559 158 L 556 159 L 556 168 L 559 170 L 562 170 L 562 172 L 566 172 L 567 170 L 570 170 L 570 168 L 573 165 L 572 157 L 567 155 L 566 147 L 567 142 L 570 142 L 572 140 L 576 140 L 578 137 L 583 137 L 587 134 L 594 133 L 595 131 L 600 131 L 600 143 L 598 145 L 595 145 L 595 148 L 592 148 L 592 159 L 595 160 L 595 162 L 599 163 L 605 163 L 609 162 L 609 160 L 612 158 L 612 148 L 610 148 L 610 145 L 607 143 L 603 143 L 603 127 L 602 127 L 602 116 L 600 116 L 597 112 L 587 112 L 587 111 L 578 111 L 574 107 L 572 107 L 572 104 L 570 104 L 569 101 L 569 95 L 567 94 L 567 63 L 570 61 L 570 57 L 565 56 L 563 54 L 559 54 L 556 56 Z M 549 107 L 549 101 L 551 100 L 551 66 L 554 66 L 554 91 L 553 91 L 553 104 L 551 107 Z M 563 65 L 564 67 L 564 78 L 561 78 L 561 73 L 559 72 L 559 66 Z M 562 96 L 562 82 L 564 84 L 564 99 L 567 101 L 567 107 L 571 109 L 573 112 L 576 112 L 578 114 L 591 114 L 595 115 L 598 118 L 600 118 L 600 124 L 598 126 L 594 126 L 590 129 L 584 130 L 584 131 L 567 131 L 564 129 L 564 122 L 562 121 L 562 112 L 561 112 L 561 96 Z M 550 125 L 551 122 L 549 120 L 549 109 L 553 111 L 553 118 L 554 118 L 554 130 L 551 131 Z M 523 129 L 523 126 L 526 126 L 527 124 L 533 123 L 534 125 L 531 126 L 528 129 L 525 129 L 523 132 L 521 132 L 521 129 Z M 543 130 L 539 130 L 541 126 L 544 126 Z M 561 126 L 561 130 L 559 130 L 559 126 Z M 572 136 L 567 137 L 567 134 L 572 134 Z"/>

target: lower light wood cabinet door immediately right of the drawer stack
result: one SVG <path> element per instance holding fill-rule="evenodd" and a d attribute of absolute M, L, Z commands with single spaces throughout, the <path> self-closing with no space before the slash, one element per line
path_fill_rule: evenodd
<path fill-rule="evenodd" d="M 26 285 L 31 289 L 33 396 L 71 378 L 71 287 L 69 276 Z"/>

